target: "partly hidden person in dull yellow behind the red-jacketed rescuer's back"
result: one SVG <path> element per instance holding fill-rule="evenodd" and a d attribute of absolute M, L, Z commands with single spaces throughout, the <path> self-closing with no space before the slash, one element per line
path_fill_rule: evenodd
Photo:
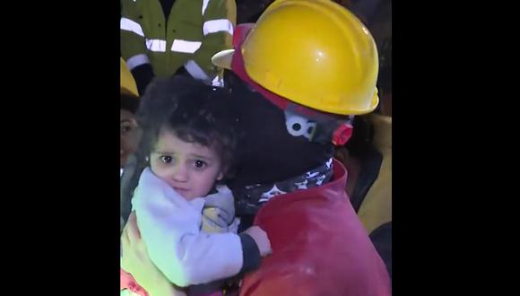
<path fill-rule="evenodd" d="M 388 104 L 382 100 L 381 105 Z M 351 140 L 334 156 L 349 171 L 352 207 L 392 276 L 392 117 L 387 109 L 355 118 Z"/>

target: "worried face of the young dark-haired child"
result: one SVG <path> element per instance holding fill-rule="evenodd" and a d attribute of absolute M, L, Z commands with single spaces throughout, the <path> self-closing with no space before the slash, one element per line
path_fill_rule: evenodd
<path fill-rule="evenodd" d="M 150 165 L 156 176 L 187 200 L 206 196 L 215 180 L 223 177 L 217 152 L 201 144 L 184 142 L 164 128 L 150 155 Z"/>

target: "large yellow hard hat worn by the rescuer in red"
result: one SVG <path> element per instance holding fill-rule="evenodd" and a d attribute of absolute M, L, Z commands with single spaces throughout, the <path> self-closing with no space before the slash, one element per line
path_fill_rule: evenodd
<path fill-rule="evenodd" d="M 379 102 L 376 43 L 354 14 L 332 1 L 275 1 L 240 50 L 255 83 L 300 105 L 359 115 Z M 229 54 L 213 62 L 229 64 Z"/>

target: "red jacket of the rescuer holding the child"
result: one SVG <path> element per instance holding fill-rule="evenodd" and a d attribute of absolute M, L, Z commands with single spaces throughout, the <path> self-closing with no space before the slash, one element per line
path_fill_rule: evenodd
<path fill-rule="evenodd" d="M 387 296 L 386 267 L 345 193 L 347 173 L 334 160 L 324 186 L 274 196 L 254 224 L 273 254 L 245 276 L 241 296 Z"/>

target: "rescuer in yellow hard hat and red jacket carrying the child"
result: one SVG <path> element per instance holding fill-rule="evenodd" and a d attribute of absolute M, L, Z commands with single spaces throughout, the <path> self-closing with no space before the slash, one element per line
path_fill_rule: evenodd
<path fill-rule="evenodd" d="M 240 295 L 390 295 L 386 267 L 344 190 L 347 172 L 332 159 L 333 145 L 351 136 L 350 116 L 378 104 L 368 30 L 331 1 L 278 0 L 256 24 L 238 25 L 233 43 L 213 57 L 231 70 L 244 133 L 228 185 L 240 228 L 258 225 L 273 249 L 245 275 Z M 139 253 L 133 237 L 128 251 Z"/>

